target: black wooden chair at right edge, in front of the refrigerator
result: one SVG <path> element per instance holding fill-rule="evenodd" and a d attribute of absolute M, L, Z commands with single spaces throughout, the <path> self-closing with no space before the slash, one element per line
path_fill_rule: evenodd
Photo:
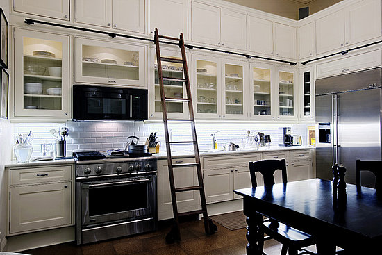
<path fill-rule="evenodd" d="M 369 171 L 375 175 L 376 192 L 382 192 L 382 161 L 361 161 L 356 160 L 356 185 L 360 188 L 360 172 Z"/>

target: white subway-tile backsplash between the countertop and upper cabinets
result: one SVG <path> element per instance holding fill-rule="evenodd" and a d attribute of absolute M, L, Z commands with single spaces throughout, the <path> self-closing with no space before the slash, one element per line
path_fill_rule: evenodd
<path fill-rule="evenodd" d="M 220 131 L 216 134 L 219 149 L 223 149 L 226 142 L 234 142 L 242 146 L 242 138 L 247 134 L 262 132 L 271 135 L 272 145 L 279 144 L 279 127 L 290 126 L 292 133 L 302 135 L 303 142 L 306 144 L 306 127 L 313 124 L 281 124 L 281 123 L 251 123 L 251 122 L 212 122 L 197 123 L 197 138 L 199 149 L 211 149 L 211 133 Z M 163 122 L 67 122 L 66 124 L 41 123 L 41 124 L 14 124 L 14 141 L 17 133 L 28 133 L 33 131 L 33 156 L 41 156 L 40 145 L 42 143 L 54 143 L 55 140 L 49 133 L 50 129 L 60 129 L 62 126 L 69 128 L 67 137 L 67 156 L 72 155 L 73 151 L 103 151 L 107 149 L 124 149 L 126 138 L 135 135 L 142 142 L 149 137 L 151 132 L 158 132 L 158 141 L 163 145 L 165 151 L 165 136 Z M 172 140 L 192 140 L 190 136 L 190 124 L 171 124 L 170 137 Z M 178 145 L 174 150 L 190 149 Z"/>

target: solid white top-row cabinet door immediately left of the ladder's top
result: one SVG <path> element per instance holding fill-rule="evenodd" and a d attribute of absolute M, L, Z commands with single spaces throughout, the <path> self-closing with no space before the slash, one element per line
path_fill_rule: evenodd
<path fill-rule="evenodd" d="M 144 33 L 144 0 L 113 0 L 113 28 Z"/>

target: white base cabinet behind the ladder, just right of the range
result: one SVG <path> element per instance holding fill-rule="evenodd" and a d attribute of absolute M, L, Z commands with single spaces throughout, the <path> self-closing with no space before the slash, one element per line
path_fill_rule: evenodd
<path fill-rule="evenodd" d="M 194 158 L 177 158 L 173 163 L 193 163 Z M 195 167 L 181 167 L 174 171 L 175 187 L 197 186 L 197 170 Z M 195 211 L 199 209 L 199 191 L 179 192 L 176 194 L 178 212 Z M 167 160 L 158 161 L 158 220 L 171 219 L 172 199 L 169 188 L 169 172 Z"/>

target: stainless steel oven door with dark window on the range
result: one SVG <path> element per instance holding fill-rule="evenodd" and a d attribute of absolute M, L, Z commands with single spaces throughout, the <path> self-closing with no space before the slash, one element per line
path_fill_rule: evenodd
<path fill-rule="evenodd" d="M 156 175 L 81 183 L 82 225 L 153 217 Z"/>

